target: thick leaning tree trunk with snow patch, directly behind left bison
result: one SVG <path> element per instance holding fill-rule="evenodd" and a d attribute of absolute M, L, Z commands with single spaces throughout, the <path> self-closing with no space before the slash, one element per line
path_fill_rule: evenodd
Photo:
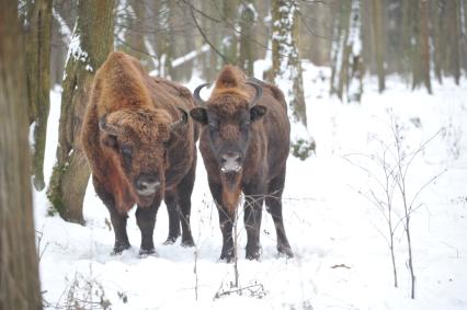
<path fill-rule="evenodd" d="M 79 1 L 62 83 L 57 163 L 47 196 L 68 221 L 83 222 L 90 170 L 81 149 L 81 123 L 95 71 L 113 49 L 113 0 Z"/>

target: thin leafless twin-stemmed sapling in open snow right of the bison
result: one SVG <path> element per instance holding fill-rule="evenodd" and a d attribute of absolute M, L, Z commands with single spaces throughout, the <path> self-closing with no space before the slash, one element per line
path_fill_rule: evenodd
<path fill-rule="evenodd" d="M 409 184 L 409 171 L 418 154 L 420 154 L 426 146 L 441 133 L 441 129 L 431 138 L 423 141 L 419 148 L 412 152 L 406 151 L 402 140 L 402 128 L 396 122 L 392 113 L 390 114 L 389 129 L 391 139 L 389 142 L 381 138 L 375 138 L 379 145 L 379 150 L 375 153 L 364 154 L 354 153 L 344 157 L 350 163 L 360 168 L 367 173 L 373 182 L 368 186 L 367 192 L 358 191 L 361 195 L 366 197 L 383 215 L 387 231 L 380 232 L 385 238 L 391 255 L 394 285 L 398 286 L 396 252 L 395 252 L 395 233 L 398 227 L 403 227 L 403 233 L 407 240 L 407 266 L 410 274 L 410 296 L 415 298 L 415 273 L 413 263 L 413 240 L 411 236 L 411 220 L 413 214 L 423 205 L 419 204 L 418 198 L 423 190 L 436 181 L 446 170 L 435 174 L 424 184 L 410 193 L 407 184 Z M 351 156 L 358 156 L 364 159 L 362 163 L 353 161 Z M 396 202 L 397 198 L 397 202 Z"/>

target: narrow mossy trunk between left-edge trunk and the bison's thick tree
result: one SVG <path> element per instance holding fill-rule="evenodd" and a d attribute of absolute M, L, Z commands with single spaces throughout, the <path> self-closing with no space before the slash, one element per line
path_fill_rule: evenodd
<path fill-rule="evenodd" d="M 44 152 L 50 92 L 52 0 L 29 3 L 25 35 L 27 94 L 30 124 L 34 123 L 33 180 L 42 191 L 44 182 Z"/>

